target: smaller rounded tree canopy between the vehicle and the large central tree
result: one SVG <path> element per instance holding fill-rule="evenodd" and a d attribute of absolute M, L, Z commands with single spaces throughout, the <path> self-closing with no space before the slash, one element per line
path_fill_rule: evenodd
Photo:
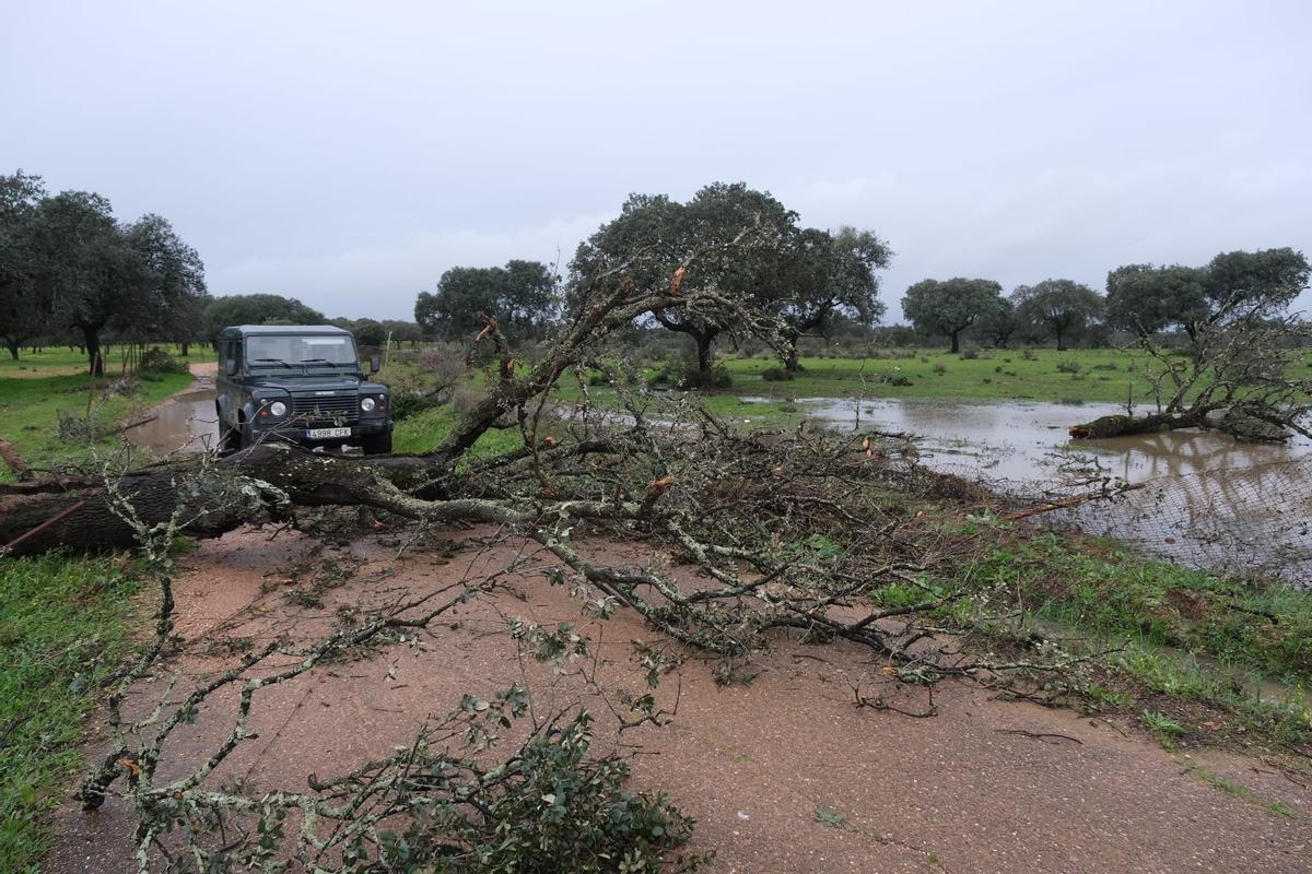
<path fill-rule="evenodd" d="M 485 313 L 510 338 L 541 337 L 559 309 L 558 282 L 539 261 L 508 261 L 504 267 L 451 267 L 433 294 L 421 291 L 415 321 L 425 334 L 461 339 L 483 329 Z"/>

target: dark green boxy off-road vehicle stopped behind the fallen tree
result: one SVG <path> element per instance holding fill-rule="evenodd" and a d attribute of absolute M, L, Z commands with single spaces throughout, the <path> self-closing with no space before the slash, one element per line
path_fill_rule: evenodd
<path fill-rule="evenodd" d="M 378 359 L 370 372 L 378 372 Z M 222 451 L 272 440 L 392 451 L 391 398 L 332 325 L 239 325 L 219 333 L 215 408 Z"/>

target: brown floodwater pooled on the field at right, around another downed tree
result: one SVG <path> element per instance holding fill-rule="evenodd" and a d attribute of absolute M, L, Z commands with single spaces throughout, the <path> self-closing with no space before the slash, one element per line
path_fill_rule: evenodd
<path fill-rule="evenodd" d="M 764 398 L 744 398 L 757 401 Z M 1035 503 L 1073 494 L 1069 453 L 1085 469 L 1143 487 L 1055 520 L 1134 542 L 1190 566 L 1258 570 L 1312 584 L 1312 442 L 1248 444 L 1215 431 L 1071 442 L 1067 428 L 1114 405 L 802 398 L 837 427 L 921 438 L 921 461 Z"/>

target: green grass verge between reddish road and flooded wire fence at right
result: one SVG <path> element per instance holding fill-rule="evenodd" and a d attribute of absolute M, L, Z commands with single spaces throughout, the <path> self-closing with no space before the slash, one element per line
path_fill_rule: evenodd
<path fill-rule="evenodd" d="M 998 625 L 962 600 L 959 621 L 1115 650 L 1098 660 L 1122 680 L 1094 687 L 1090 704 L 1138 701 L 1140 723 L 1164 746 L 1218 731 L 1240 743 L 1312 743 L 1312 594 L 1186 570 L 1097 539 L 998 540 L 971 580 L 980 599 L 1006 603 L 1018 618 Z"/>

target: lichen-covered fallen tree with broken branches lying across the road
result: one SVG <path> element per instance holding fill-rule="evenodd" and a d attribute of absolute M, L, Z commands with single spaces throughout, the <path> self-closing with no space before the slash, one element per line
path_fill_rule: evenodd
<path fill-rule="evenodd" d="M 607 356 L 606 341 L 653 309 L 701 311 L 777 342 L 778 324 L 768 316 L 714 288 L 680 287 L 678 276 L 693 259 L 731 258 L 749 245 L 770 240 L 756 227 L 744 228 L 727 246 L 664 265 L 670 279 L 648 288 L 635 287 L 632 259 L 605 266 L 531 367 L 516 360 L 496 322 L 487 320 L 479 342 L 497 351 L 488 396 L 428 453 L 346 459 L 266 444 L 226 457 L 199 455 L 0 485 L 0 542 L 10 554 L 140 546 L 159 580 L 155 641 L 110 696 L 112 752 L 80 790 L 83 803 L 94 808 L 126 784 L 122 795 L 138 819 L 140 870 L 245 870 L 290 853 L 307 869 L 382 870 L 394 849 L 384 829 L 407 818 L 417 829 L 405 832 L 407 841 L 425 864 L 468 856 L 484 844 L 501 846 L 506 823 L 537 846 L 541 835 L 533 829 L 542 826 L 546 801 L 539 781 L 556 774 L 594 788 L 584 795 L 583 811 L 575 807 L 577 795 L 571 811 L 585 812 L 586 803 L 606 810 L 623 803 L 643 822 L 672 828 L 664 841 L 643 837 L 649 852 L 638 849 L 651 865 L 628 870 L 656 870 L 660 853 L 686 835 L 677 810 L 621 794 L 615 763 L 584 756 L 585 726 L 548 721 L 538 730 L 542 743 L 530 740 L 495 767 L 446 750 L 447 740 L 484 725 L 474 714 L 505 715 L 487 701 L 462 705 L 454 718 L 430 726 L 395 756 L 336 778 L 311 778 L 311 791 L 215 786 L 216 769 L 252 736 L 247 718 L 262 689 L 295 681 L 352 647 L 383 641 L 388 632 L 440 624 L 463 600 L 491 588 L 495 573 L 463 580 L 459 591 L 375 612 L 318 643 L 270 639 L 241 654 L 231 670 L 197 680 L 178 700 L 169 687 L 143 718 L 125 715 L 121 705 L 134 683 L 157 670 L 174 639 L 168 578 L 173 537 L 295 522 L 304 508 L 365 507 L 383 525 L 400 523 L 394 529 L 407 537 L 491 523 L 502 542 L 513 537 L 541 545 L 546 580 L 568 586 L 581 609 L 601 617 L 634 611 L 672 641 L 715 656 L 716 676 L 726 681 L 740 679 L 737 666 L 771 636 L 792 634 L 866 647 L 886 676 L 912 688 L 968 676 L 1051 701 L 1082 683 L 1081 666 L 1092 656 L 1071 655 L 1036 632 L 1004 641 L 994 629 L 989 650 L 1002 650 L 1001 656 L 968 653 L 950 636 L 945 608 L 972 594 L 970 573 L 954 562 L 971 536 L 922 519 L 908 498 L 951 498 L 962 485 L 890 457 L 869 438 L 741 435 L 705 413 L 695 418 L 693 410 L 657 425 L 632 401 L 621 427 L 597 427 L 585 418 L 556 423 L 547 434 L 548 392 L 558 380 L 577 373 L 585 387 L 583 370 L 597 367 L 622 388 L 625 368 Z M 668 426 L 693 419 L 695 431 Z M 517 428 L 521 444 L 471 460 L 479 438 L 504 427 Z M 584 533 L 628 541 L 647 557 L 598 561 Z M 676 573 L 664 558 L 685 569 Z M 283 664 L 270 666 L 273 656 Z M 224 692 L 236 696 L 231 730 L 198 768 L 168 777 L 159 767 L 164 743 Z M 859 689 L 855 698 L 857 706 L 896 710 Z M 504 702 L 510 715 L 520 708 L 512 697 Z M 649 694 L 632 704 L 627 719 L 664 718 Z M 914 715 L 930 713 L 932 698 Z M 562 759 L 562 751 L 579 752 Z M 283 831 L 285 819 L 299 829 Z M 236 831 L 226 832 L 234 823 Z M 577 831 L 571 826 L 565 833 Z M 635 835 L 630 829 L 598 841 L 597 858 L 632 850 Z"/>

